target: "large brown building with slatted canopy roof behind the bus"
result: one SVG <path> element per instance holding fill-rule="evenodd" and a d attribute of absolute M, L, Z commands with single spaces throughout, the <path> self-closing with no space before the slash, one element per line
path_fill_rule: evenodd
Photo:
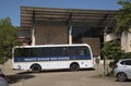
<path fill-rule="evenodd" d="M 111 33 L 118 11 L 21 7 L 20 37 L 31 45 L 88 44 L 100 53 L 104 30 Z M 25 41 L 25 40 L 22 40 Z"/>

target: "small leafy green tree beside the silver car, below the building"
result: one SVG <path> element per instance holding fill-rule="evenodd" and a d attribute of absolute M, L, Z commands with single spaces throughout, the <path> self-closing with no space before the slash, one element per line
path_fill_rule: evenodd
<path fill-rule="evenodd" d="M 109 66 L 114 70 L 116 62 L 120 59 L 131 59 L 131 52 L 124 52 L 121 50 L 120 42 L 118 40 L 108 41 L 104 44 L 102 53 L 106 56 L 107 59 L 114 60 L 109 63 Z"/>

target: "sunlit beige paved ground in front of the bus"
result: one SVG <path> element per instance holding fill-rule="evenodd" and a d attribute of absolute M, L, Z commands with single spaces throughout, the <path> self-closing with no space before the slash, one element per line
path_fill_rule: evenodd
<path fill-rule="evenodd" d="M 114 76 L 103 76 L 102 65 L 95 71 L 46 71 L 28 73 L 11 70 L 11 61 L 3 65 L 10 86 L 131 86 L 131 81 L 116 82 Z"/>

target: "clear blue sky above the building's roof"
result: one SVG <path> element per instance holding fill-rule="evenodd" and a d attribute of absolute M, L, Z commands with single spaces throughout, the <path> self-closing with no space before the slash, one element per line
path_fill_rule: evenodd
<path fill-rule="evenodd" d="M 21 26 L 21 7 L 58 9 L 119 10 L 119 0 L 0 0 L 0 19 L 10 17 L 14 26 Z"/>

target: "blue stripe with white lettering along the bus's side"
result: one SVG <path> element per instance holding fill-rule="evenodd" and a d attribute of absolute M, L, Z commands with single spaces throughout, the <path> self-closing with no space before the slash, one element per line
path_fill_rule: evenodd
<path fill-rule="evenodd" d="M 79 57 L 21 57 L 14 58 L 14 62 L 32 62 L 32 61 L 67 61 L 67 60 L 91 60 L 91 56 Z"/>

